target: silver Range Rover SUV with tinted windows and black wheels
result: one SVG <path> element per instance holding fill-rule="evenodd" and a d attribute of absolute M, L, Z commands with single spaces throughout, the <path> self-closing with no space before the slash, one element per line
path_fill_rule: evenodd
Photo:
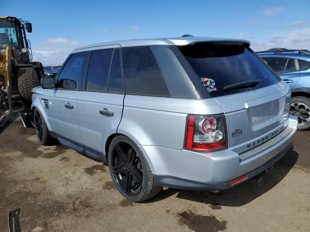
<path fill-rule="evenodd" d="M 244 40 L 128 40 L 77 48 L 33 88 L 39 142 L 109 164 L 125 198 L 222 190 L 292 146 L 291 91 Z"/>

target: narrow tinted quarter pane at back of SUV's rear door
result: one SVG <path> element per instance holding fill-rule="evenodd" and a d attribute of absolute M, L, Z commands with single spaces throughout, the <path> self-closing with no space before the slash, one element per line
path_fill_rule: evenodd
<path fill-rule="evenodd" d="M 121 69 L 121 49 L 115 48 L 109 76 L 109 92 L 124 93 Z"/>

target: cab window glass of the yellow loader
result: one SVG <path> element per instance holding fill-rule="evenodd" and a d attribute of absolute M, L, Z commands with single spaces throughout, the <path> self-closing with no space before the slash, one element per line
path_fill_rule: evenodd
<path fill-rule="evenodd" d="M 9 22 L 6 18 L 0 19 L 0 47 L 17 47 L 17 36 L 14 22 Z"/>

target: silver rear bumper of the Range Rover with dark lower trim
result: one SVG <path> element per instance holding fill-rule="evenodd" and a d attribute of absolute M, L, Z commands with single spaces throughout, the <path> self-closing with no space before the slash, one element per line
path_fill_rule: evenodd
<path fill-rule="evenodd" d="M 297 119 L 290 116 L 287 124 L 292 129 L 287 136 L 268 149 L 242 161 L 239 154 L 232 149 L 199 153 L 156 146 L 139 147 L 148 160 L 158 185 L 181 189 L 222 190 L 262 173 L 289 151 Z M 247 179 L 230 184 L 232 180 L 245 174 L 248 175 Z"/>

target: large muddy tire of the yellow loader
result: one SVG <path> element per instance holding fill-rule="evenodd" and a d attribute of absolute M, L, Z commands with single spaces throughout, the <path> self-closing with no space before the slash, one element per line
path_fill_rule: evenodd
<path fill-rule="evenodd" d="M 19 68 L 17 73 L 17 85 L 20 97 L 25 107 L 31 105 L 31 90 L 37 86 L 38 76 L 32 67 Z"/>

